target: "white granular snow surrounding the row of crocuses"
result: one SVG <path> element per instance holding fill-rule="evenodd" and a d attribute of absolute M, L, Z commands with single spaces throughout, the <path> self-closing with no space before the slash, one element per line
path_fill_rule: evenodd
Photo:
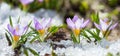
<path fill-rule="evenodd" d="M 0 4 L 0 56 L 14 55 L 11 46 L 7 45 L 7 40 L 4 36 L 6 25 L 9 23 L 9 16 L 12 16 L 13 24 L 16 24 L 19 17 L 21 18 L 22 25 L 28 24 L 28 22 L 34 18 L 41 19 L 42 17 L 52 18 L 52 25 L 59 26 L 63 24 L 62 17 L 55 11 L 40 9 L 35 13 L 25 13 L 19 8 L 12 9 L 6 3 Z M 46 53 L 51 54 L 51 42 L 50 40 L 43 43 L 32 44 L 27 42 L 26 46 L 33 48 L 39 52 L 41 56 L 44 56 Z M 94 43 L 86 43 L 84 39 L 78 45 L 73 44 L 71 40 L 61 40 L 60 42 L 52 43 L 65 46 L 65 48 L 57 47 L 56 50 L 54 50 L 58 56 L 106 56 L 108 53 L 116 56 L 117 53 L 120 53 L 120 39 L 112 42 L 103 39 L 97 45 Z M 106 46 L 109 47 L 106 48 Z M 21 54 L 21 56 L 23 56 L 23 54 Z"/>

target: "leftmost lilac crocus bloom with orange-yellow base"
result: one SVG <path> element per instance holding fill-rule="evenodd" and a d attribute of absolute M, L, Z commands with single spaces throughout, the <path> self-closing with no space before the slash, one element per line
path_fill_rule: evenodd
<path fill-rule="evenodd" d="M 13 35 L 13 40 L 17 42 L 19 41 L 20 36 L 22 36 L 25 33 L 25 31 L 28 29 L 28 26 L 21 27 L 17 25 L 17 27 L 13 28 L 10 24 L 8 24 L 7 28 L 9 32 L 11 32 L 11 34 Z"/>

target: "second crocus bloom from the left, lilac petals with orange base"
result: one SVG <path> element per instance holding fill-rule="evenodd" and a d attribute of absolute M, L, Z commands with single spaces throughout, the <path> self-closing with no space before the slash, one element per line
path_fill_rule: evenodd
<path fill-rule="evenodd" d="M 35 29 L 39 32 L 40 35 L 44 35 L 47 28 L 50 26 L 52 19 L 43 18 L 39 23 L 37 19 L 34 19 Z"/>

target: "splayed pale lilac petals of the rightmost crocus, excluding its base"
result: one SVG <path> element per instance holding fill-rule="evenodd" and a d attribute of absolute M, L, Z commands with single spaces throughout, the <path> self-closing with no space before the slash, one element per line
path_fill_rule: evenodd
<path fill-rule="evenodd" d="M 114 29 L 118 23 L 115 23 L 114 25 L 112 25 L 112 21 L 108 21 L 108 19 L 104 19 L 104 20 L 100 19 L 99 25 L 96 23 L 94 23 L 94 24 L 104 34 L 104 32 L 106 32 L 107 30 L 110 31 L 110 30 Z"/>

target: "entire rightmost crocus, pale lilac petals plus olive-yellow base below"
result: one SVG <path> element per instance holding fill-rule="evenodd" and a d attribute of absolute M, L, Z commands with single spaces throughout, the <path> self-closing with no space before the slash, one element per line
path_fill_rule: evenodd
<path fill-rule="evenodd" d="M 110 34 L 110 31 L 114 29 L 118 23 L 113 24 L 112 20 L 106 18 L 104 20 L 100 19 L 99 24 L 94 24 L 100 31 L 102 31 L 102 34 L 104 35 L 103 37 L 107 39 L 108 35 Z"/>

